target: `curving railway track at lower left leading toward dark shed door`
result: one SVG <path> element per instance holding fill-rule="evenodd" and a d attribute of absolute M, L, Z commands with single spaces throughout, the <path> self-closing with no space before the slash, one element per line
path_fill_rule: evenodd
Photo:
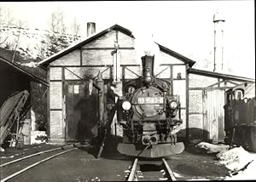
<path fill-rule="evenodd" d="M 90 145 L 90 144 L 88 144 Z M 84 145 L 87 146 L 87 145 Z M 0 165 L 0 182 L 8 181 L 18 176 L 20 173 L 24 173 L 30 168 L 38 166 L 39 164 L 49 161 L 55 156 L 60 156 L 70 151 L 78 149 L 75 145 L 61 146 L 48 151 L 40 151 L 38 153 L 24 156 L 19 159 L 6 162 Z"/>

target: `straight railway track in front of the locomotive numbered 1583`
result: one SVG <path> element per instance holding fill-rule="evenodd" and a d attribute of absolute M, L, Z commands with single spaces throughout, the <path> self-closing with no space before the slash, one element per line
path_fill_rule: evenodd
<path fill-rule="evenodd" d="M 136 158 L 132 164 L 130 173 L 127 175 L 127 181 L 141 180 L 177 180 L 172 172 L 172 169 L 166 162 L 166 159 L 161 159 L 161 164 L 147 164 L 139 162 Z M 152 163 L 152 161 L 151 161 Z M 147 169 L 148 168 L 148 169 Z"/>

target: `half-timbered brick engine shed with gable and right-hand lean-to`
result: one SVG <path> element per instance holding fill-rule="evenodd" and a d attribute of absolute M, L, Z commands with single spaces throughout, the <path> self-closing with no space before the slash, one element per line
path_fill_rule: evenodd
<path fill-rule="evenodd" d="M 159 43 L 155 45 L 160 56 L 154 60 L 157 64 L 154 75 L 171 82 L 172 94 L 179 95 L 183 119 L 179 137 L 221 141 L 224 90 L 254 80 L 193 69 L 195 60 Z M 141 60 L 138 59 L 142 56 L 132 32 L 114 25 L 39 62 L 48 71 L 50 140 L 79 141 L 96 137 L 96 90 L 92 95 L 86 91 L 89 78 L 95 78 L 100 71 L 104 82 L 114 82 L 115 92 L 121 96 L 125 82 L 141 76 L 142 66 L 138 64 Z M 223 101 L 217 102 L 217 98 Z M 113 126 L 113 134 L 121 136 L 119 131 Z"/>

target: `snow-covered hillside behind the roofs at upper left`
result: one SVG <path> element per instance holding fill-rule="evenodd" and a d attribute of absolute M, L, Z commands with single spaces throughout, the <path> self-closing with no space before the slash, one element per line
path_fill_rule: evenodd
<path fill-rule="evenodd" d="M 0 26 L 0 34 L 1 40 L 5 40 L 0 44 L 0 47 L 7 50 L 16 49 L 24 60 L 44 60 L 52 54 L 55 54 L 49 42 L 52 36 L 47 30 Z M 57 52 L 61 51 L 63 48 L 67 48 L 67 46 L 73 43 L 79 42 L 83 38 L 61 33 L 55 33 L 54 36 L 55 40 L 57 40 L 55 42 Z"/>

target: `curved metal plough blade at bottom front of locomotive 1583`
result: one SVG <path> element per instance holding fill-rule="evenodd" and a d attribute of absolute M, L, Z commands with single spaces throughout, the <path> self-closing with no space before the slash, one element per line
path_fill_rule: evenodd
<path fill-rule="evenodd" d="M 183 142 L 177 142 L 176 145 L 171 144 L 160 144 L 160 145 L 152 145 L 152 147 L 143 151 L 140 154 L 141 157 L 149 157 L 149 158 L 158 158 L 164 156 L 172 156 L 176 154 L 180 154 L 185 149 Z M 125 156 L 137 156 L 141 150 L 136 150 L 135 145 L 133 144 L 118 144 L 119 153 Z"/>

